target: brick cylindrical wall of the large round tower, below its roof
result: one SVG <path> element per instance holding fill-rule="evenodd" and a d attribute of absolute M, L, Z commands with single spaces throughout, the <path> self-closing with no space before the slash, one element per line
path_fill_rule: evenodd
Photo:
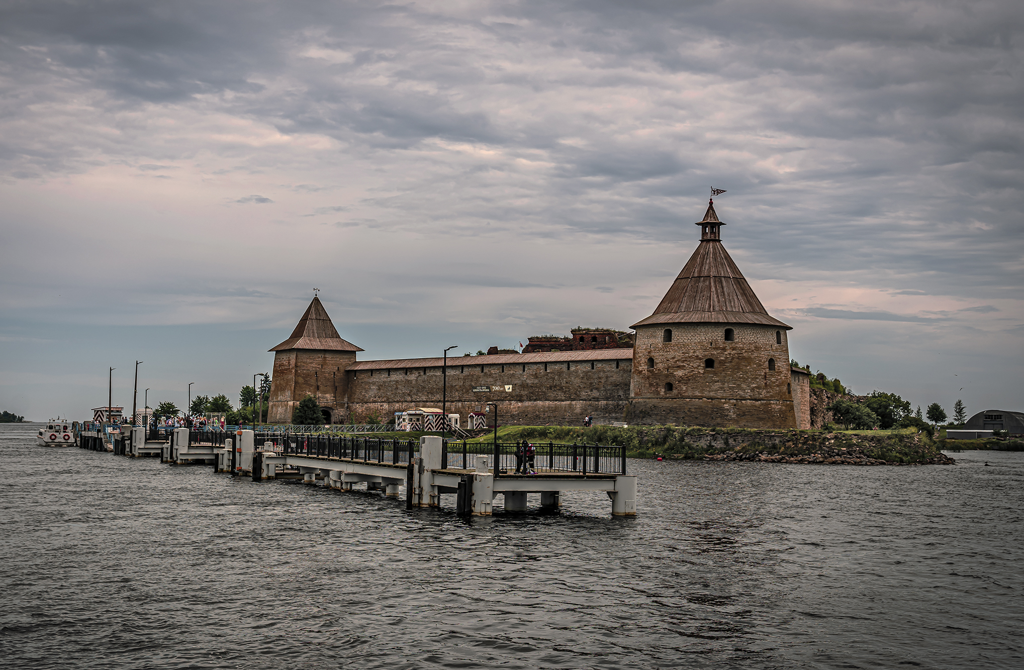
<path fill-rule="evenodd" d="M 664 341 L 667 328 L 670 342 Z M 733 329 L 733 341 L 725 340 L 726 328 Z M 715 361 L 713 369 L 705 367 L 707 359 Z M 755 324 L 641 326 L 633 370 L 628 422 L 797 426 L 785 330 Z"/>

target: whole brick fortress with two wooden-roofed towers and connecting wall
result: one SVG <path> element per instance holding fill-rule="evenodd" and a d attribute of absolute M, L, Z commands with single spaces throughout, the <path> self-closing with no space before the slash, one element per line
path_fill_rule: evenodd
<path fill-rule="evenodd" d="M 809 428 L 810 379 L 790 367 L 792 327 L 768 315 L 729 257 L 714 202 L 697 225 L 697 249 L 653 313 L 632 326 L 635 335 L 574 329 L 569 338 L 530 338 L 523 353 L 450 358 L 447 412 L 466 417 L 497 402 L 502 424 L 580 425 L 592 415 L 596 423 Z M 270 350 L 272 423 L 289 423 L 307 395 L 329 423 L 441 405 L 442 358 L 358 361 L 364 349 L 341 338 L 318 297 Z"/>

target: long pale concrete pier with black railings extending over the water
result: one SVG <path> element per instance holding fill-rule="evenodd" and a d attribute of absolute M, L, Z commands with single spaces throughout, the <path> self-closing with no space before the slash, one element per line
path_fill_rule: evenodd
<path fill-rule="evenodd" d="M 413 441 L 191 431 L 177 428 L 165 442 L 147 439 L 145 428 L 125 434 L 115 453 L 140 457 L 159 454 L 172 464 L 207 463 L 217 472 L 251 476 L 256 481 L 302 478 L 309 485 L 351 491 L 366 484 L 399 498 L 404 488 L 407 508 L 436 507 L 442 495 L 455 496 L 461 516 L 492 514 L 494 500 L 504 497 L 506 511 L 524 511 L 526 496 L 540 494 L 541 507 L 557 509 L 566 491 L 605 493 L 615 516 L 636 514 L 636 475 L 626 474 L 625 448 L 542 445 L 536 471 L 510 472 L 515 455 L 509 446 L 477 446 L 487 453 L 450 449 L 436 435 Z M 259 443 L 259 446 L 257 446 Z M 455 461 L 453 463 L 453 461 Z M 497 465 L 497 467 L 496 467 Z M 518 469 L 518 468 L 516 468 Z"/>

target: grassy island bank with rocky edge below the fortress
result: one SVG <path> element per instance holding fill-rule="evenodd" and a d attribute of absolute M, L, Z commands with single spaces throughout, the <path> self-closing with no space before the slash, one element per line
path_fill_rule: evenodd
<path fill-rule="evenodd" d="M 377 437 L 419 437 L 438 433 L 375 433 Z M 473 437 L 486 444 L 494 432 Z M 948 465 L 955 461 L 941 452 L 927 431 L 894 430 L 757 430 L 687 426 L 502 426 L 498 439 L 510 443 L 579 443 L 627 447 L 630 458 L 822 463 L 827 465 Z"/>

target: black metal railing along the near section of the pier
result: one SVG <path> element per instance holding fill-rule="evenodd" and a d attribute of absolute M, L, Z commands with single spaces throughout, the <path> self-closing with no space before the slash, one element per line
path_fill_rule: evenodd
<path fill-rule="evenodd" d="M 384 439 L 329 434 L 287 434 L 259 431 L 257 449 L 293 456 L 324 456 L 365 462 L 408 464 L 416 455 L 417 439 Z M 446 441 L 441 450 L 445 468 L 472 470 L 477 456 L 493 457 L 499 475 L 516 472 L 578 472 L 580 474 L 626 474 L 626 448 L 607 445 L 534 444 L 534 458 L 521 453 L 515 443 L 469 443 Z M 521 458 L 520 458 L 521 456 Z M 494 467 L 493 465 L 490 467 Z"/>

